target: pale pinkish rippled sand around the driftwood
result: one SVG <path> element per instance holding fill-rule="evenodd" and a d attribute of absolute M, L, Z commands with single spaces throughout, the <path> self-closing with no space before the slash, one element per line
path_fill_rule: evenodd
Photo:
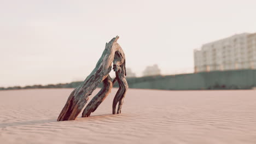
<path fill-rule="evenodd" d="M 256 91 L 129 89 L 111 115 L 113 89 L 91 117 L 56 122 L 71 91 L 0 91 L 0 143 L 256 143 Z"/>

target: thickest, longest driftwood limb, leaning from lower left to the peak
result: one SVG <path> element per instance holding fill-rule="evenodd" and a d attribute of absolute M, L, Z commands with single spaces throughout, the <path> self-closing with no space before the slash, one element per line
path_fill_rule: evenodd
<path fill-rule="evenodd" d="M 120 49 L 117 43 L 118 38 L 119 37 L 115 37 L 110 40 L 109 43 L 106 43 L 106 47 L 95 69 L 92 70 L 91 74 L 86 77 L 84 82 L 69 95 L 66 105 L 63 107 L 57 121 L 74 120 L 88 101 L 89 95 L 91 95 L 96 87 L 108 77 L 112 68 L 111 64 L 114 60 L 115 52 Z"/>

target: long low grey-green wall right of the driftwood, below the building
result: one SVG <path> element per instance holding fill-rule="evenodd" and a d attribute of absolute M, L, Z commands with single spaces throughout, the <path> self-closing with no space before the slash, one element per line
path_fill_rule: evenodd
<path fill-rule="evenodd" d="M 146 89 L 251 89 L 256 70 L 211 71 L 196 74 L 149 76 L 128 79 L 130 88 Z"/>

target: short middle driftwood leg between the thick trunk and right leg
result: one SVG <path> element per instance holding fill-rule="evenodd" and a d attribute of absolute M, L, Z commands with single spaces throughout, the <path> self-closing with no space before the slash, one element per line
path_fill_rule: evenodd
<path fill-rule="evenodd" d="M 106 79 L 103 80 L 103 87 L 101 91 L 95 95 L 95 97 L 90 101 L 88 105 L 86 105 L 82 117 L 89 117 L 91 112 L 94 112 L 97 107 L 102 103 L 102 101 L 108 96 L 111 89 L 113 88 L 112 79 L 108 75 Z"/>

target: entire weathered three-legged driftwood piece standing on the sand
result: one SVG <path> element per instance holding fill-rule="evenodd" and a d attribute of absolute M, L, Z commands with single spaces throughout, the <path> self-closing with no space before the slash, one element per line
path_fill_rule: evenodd
<path fill-rule="evenodd" d="M 118 39 L 119 37 L 115 37 L 110 40 L 109 43 L 106 43 L 106 47 L 98 60 L 96 67 L 92 70 L 91 74 L 86 77 L 84 82 L 71 92 L 57 121 L 74 120 L 83 110 L 89 96 L 101 82 L 103 82 L 103 87 L 85 107 L 82 117 L 89 117 L 91 112 L 94 112 L 97 109 L 110 93 L 115 81 L 118 81 L 119 89 L 113 101 L 112 113 L 115 114 L 117 103 L 119 103 L 117 113 L 121 113 L 121 106 L 123 105 L 128 85 L 125 80 L 125 55 L 120 45 L 117 43 Z M 113 82 L 109 76 L 112 69 L 112 62 L 116 75 Z"/>

